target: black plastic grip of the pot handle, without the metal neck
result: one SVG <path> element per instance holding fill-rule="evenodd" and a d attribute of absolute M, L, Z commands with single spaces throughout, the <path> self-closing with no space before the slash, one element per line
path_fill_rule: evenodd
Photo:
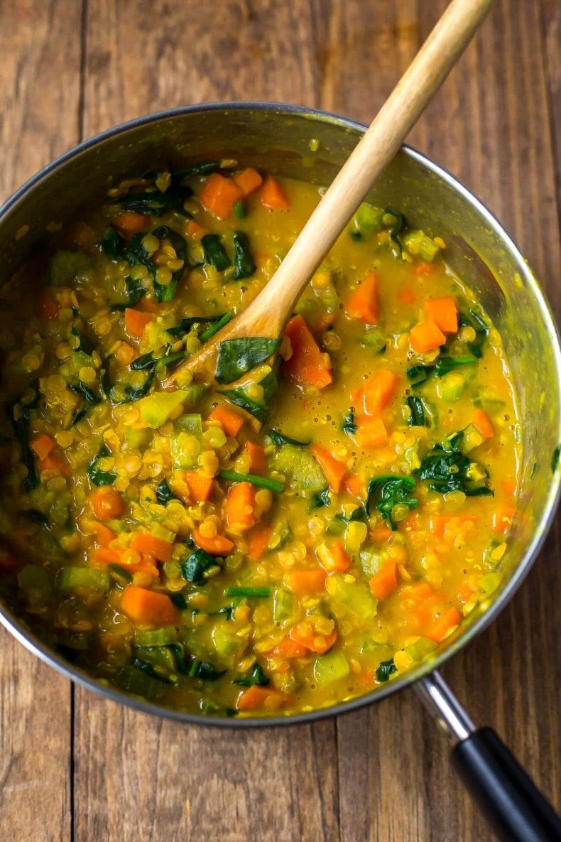
<path fill-rule="evenodd" d="M 561 842 L 561 818 L 491 728 L 458 743 L 452 761 L 501 842 Z"/>

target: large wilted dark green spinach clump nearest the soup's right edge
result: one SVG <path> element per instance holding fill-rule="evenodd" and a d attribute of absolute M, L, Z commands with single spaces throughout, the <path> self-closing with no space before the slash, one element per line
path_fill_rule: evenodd
<path fill-rule="evenodd" d="M 442 445 L 435 445 L 421 461 L 415 472 L 429 482 L 429 488 L 441 494 L 463 491 L 467 497 L 493 494 L 487 485 L 489 473 L 477 462 L 470 461 L 459 449 L 463 431 L 450 436 Z"/>

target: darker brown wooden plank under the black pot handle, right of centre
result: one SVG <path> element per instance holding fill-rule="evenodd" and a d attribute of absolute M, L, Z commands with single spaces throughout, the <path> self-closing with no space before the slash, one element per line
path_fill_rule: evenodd
<path fill-rule="evenodd" d="M 325 88 L 338 91 L 330 93 L 336 110 L 368 119 L 444 3 L 384 4 L 371 28 L 364 27 L 363 4 L 338 5 L 336 31 L 345 34 L 346 51 L 367 51 L 373 72 L 361 91 L 363 67 L 331 61 L 331 73 L 347 77 L 341 88 L 329 79 Z M 559 242 L 542 54 L 539 4 L 500 3 L 410 141 L 458 174 L 495 210 L 558 310 Z M 561 592 L 558 532 L 557 523 L 527 582 L 499 620 L 443 670 L 475 721 L 499 731 L 550 797 L 559 792 L 561 731 L 552 663 L 558 648 L 553 618 Z M 338 738 L 344 842 L 489 838 L 449 770 L 446 740 L 412 693 L 341 717 Z M 357 803 L 363 809 L 357 810 Z"/>

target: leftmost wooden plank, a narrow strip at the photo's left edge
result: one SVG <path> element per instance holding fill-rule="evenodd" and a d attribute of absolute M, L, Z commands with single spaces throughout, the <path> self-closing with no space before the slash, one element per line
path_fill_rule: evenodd
<path fill-rule="evenodd" d="M 0 4 L 0 201 L 77 142 L 81 4 Z M 0 838 L 71 838 L 71 685 L 0 632 Z"/>

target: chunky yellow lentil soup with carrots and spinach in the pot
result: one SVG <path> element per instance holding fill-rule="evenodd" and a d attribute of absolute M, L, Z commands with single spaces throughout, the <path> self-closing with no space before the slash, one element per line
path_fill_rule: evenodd
<path fill-rule="evenodd" d="M 429 658 L 500 584 L 508 365 L 446 243 L 399 210 L 359 208 L 281 342 L 225 342 L 214 386 L 162 385 L 319 198 L 234 161 L 146 173 L 0 290 L 0 588 L 131 695 L 331 706 Z"/>

